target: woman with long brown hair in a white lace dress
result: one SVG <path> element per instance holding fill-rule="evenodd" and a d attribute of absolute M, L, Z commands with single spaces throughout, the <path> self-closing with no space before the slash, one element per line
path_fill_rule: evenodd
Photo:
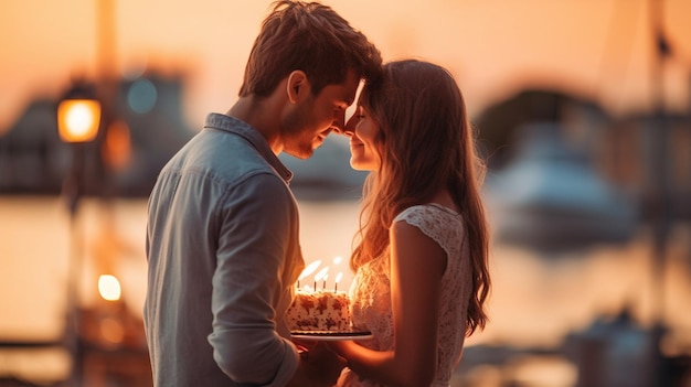
<path fill-rule="evenodd" d="M 448 386 L 465 337 L 485 327 L 490 289 L 460 90 L 435 64 L 389 63 L 346 135 L 352 168 L 372 172 L 350 264 L 353 323 L 374 337 L 331 343 L 349 366 L 339 386 Z"/>

